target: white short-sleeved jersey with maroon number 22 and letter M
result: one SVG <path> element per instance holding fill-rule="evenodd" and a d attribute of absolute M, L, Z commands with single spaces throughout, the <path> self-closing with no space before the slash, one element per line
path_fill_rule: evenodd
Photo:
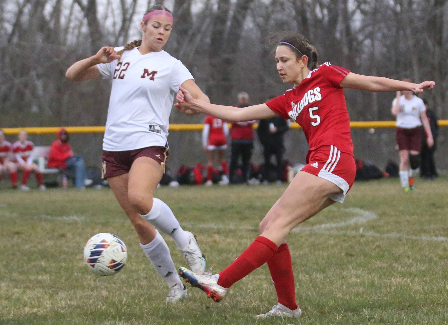
<path fill-rule="evenodd" d="M 179 85 L 193 79 L 185 65 L 165 51 L 142 55 L 134 47 L 123 53 L 120 62 L 97 67 L 103 79 L 112 79 L 103 150 L 164 146 L 174 96 Z"/>

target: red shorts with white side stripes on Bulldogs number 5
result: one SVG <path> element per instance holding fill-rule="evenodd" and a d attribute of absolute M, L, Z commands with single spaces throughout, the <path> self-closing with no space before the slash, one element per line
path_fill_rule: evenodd
<path fill-rule="evenodd" d="M 341 152 L 334 145 L 323 145 L 306 155 L 308 164 L 302 168 L 310 174 L 329 180 L 343 193 L 330 197 L 333 201 L 343 203 L 347 192 L 355 181 L 356 164 L 351 154 Z"/>

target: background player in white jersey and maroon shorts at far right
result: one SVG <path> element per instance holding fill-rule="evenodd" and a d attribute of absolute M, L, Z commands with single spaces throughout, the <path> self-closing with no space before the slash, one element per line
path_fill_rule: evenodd
<path fill-rule="evenodd" d="M 402 81 L 412 82 L 409 78 Z M 434 140 L 426 116 L 425 104 L 412 91 L 398 91 L 392 102 L 391 111 L 392 115 L 396 116 L 401 186 L 405 192 L 409 192 L 415 189 L 414 175 L 417 175 L 421 162 L 422 124 L 428 147 L 432 147 Z"/>

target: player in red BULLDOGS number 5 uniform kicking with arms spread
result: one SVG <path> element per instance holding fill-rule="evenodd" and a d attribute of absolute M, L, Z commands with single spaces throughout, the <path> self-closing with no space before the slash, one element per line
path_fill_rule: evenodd
<path fill-rule="evenodd" d="M 277 71 L 291 90 L 267 103 L 240 109 L 193 99 L 180 88 L 177 107 L 194 109 L 229 121 L 266 119 L 276 115 L 292 118 L 303 128 L 310 145 L 307 165 L 297 173 L 280 199 L 260 222 L 252 244 L 219 274 L 194 274 L 181 268 L 179 273 L 215 301 L 228 288 L 267 262 L 277 292 L 278 304 L 259 318 L 298 317 L 302 314 L 294 292 L 294 278 L 286 236 L 297 225 L 318 214 L 335 201 L 343 202 L 353 184 L 356 167 L 350 135 L 349 114 L 343 88 L 421 93 L 432 89 L 434 81 L 413 84 L 383 77 L 351 73 L 330 63 L 317 64 L 316 48 L 300 34 L 283 38 L 276 48 Z"/>

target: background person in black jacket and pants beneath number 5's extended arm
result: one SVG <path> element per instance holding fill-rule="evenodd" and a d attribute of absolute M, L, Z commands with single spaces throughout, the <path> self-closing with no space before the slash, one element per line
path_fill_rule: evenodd
<path fill-rule="evenodd" d="M 271 98 L 268 98 L 271 99 Z M 290 128 L 290 122 L 285 121 L 282 117 L 276 116 L 270 119 L 260 120 L 258 122 L 258 139 L 263 145 L 264 166 L 262 169 L 263 184 L 268 182 L 268 173 L 271 170 L 271 157 L 276 157 L 276 183 L 281 184 L 283 179 L 283 154 L 284 139 L 283 135 Z"/>

